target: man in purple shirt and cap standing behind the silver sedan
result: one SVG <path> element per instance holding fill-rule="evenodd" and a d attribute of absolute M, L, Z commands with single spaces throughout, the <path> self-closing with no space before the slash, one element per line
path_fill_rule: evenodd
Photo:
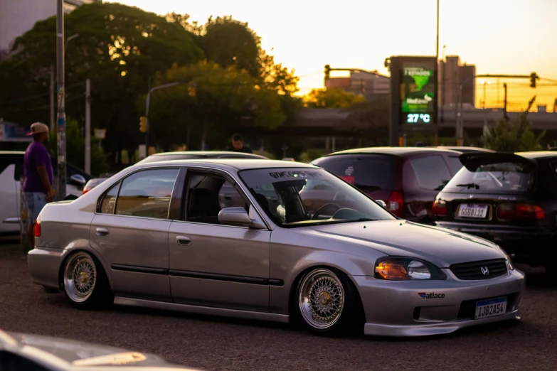
<path fill-rule="evenodd" d="M 52 202 L 54 198 L 54 173 L 52 169 L 51 156 L 46 150 L 46 144 L 50 139 L 46 124 L 36 122 L 31 125 L 33 141 L 27 147 L 23 156 L 23 193 L 27 204 L 27 218 L 29 221 L 28 237 L 33 245 L 34 227 L 38 217 L 46 203 Z"/>

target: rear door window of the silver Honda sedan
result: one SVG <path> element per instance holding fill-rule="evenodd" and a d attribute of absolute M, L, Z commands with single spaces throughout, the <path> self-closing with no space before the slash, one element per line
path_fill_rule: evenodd
<path fill-rule="evenodd" d="M 168 219 L 177 168 L 133 173 L 122 181 L 116 202 L 117 215 Z"/>

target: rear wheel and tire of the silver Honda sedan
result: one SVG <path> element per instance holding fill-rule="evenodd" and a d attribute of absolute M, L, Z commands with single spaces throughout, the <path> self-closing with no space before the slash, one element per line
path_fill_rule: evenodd
<path fill-rule="evenodd" d="M 100 308 L 112 299 L 105 270 L 88 252 L 75 252 L 68 257 L 62 280 L 65 296 L 78 308 Z"/>

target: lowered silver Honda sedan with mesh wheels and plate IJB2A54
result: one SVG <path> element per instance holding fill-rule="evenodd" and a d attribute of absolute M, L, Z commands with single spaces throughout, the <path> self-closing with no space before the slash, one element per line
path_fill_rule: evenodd
<path fill-rule="evenodd" d="M 496 244 L 401 220 L 316 166 L 163 161 L 39 215 L 28 266 L 71 303 L 416 336 L 519 319 Z"/>

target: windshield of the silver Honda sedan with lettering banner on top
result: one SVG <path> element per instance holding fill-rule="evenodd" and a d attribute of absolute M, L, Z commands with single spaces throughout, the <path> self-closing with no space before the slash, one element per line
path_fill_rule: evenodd
<path fill-rule="evenodd" d="M 283 227 L 396 219 L 323 169 L 245 170 L 240 171 L 240 178 L 265 213 Z"/>

